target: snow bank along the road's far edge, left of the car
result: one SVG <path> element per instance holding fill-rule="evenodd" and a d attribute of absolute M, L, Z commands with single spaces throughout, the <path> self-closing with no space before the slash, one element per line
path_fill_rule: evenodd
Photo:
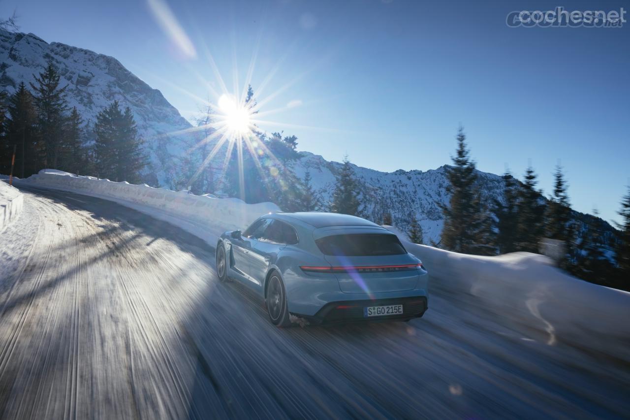
<path fill-rule="evenodd" d="M 214 195 L 193 195 L 149 185 L 112 182 L 81 177 L 58 170 L 41 170 L 16 185 L 77 192 L 130 207 L 154 218 L 180 226 L 214 245 L 226 230 L 244 229 L 261 214 L 280 211 L 270 202 L 246 204 L 239 199 L 218 199 Z"/>

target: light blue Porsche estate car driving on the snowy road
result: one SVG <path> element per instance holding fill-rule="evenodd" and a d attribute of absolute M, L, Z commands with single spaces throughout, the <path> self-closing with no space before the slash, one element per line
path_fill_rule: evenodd
<path fill-rule="evenodd" d="M 269 318 L 288 327 L 410 320 L 427 310 L 428 275 L 390 231 L 336 213 L 275 213 L 217 243 L 219 279 L 265 299 Z M 292 316 L 293 315 L 293 316 Z"/>

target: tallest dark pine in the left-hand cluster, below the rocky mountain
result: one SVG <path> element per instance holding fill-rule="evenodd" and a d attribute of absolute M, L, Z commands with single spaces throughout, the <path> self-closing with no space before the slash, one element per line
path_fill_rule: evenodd
<path fill-rule="evenodd" d="M 31 83 L 33 89 L 33 103 L 37 110 L 38 134 L 43 141 L 45 150 L 44 165 L 57 169 L 60 151 L 63 148 L 64 112 L 67 109 L 65 98 L 66 88 L 59 87 L 60 75 L 52 63 L 35 77 L 36 84 Z"/>

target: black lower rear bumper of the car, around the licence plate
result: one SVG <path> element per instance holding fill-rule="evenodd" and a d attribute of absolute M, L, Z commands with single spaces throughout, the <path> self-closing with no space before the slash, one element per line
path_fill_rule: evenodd
<path fill-rule="evenodd" d="M 403 305 L 401 315 L 386 315 L 382 317 L 365 317 L 366 306 Z M 420 318 L 427 310 L 427 296 L 408 296 L 403 298 L 383 298 L 370 300 L 345 300 L 326 303 L 315 315 L 302 315 L 312 324 L 343 324 L 346 322 L 378 322 L 392 320 L 408 320 Z"/>

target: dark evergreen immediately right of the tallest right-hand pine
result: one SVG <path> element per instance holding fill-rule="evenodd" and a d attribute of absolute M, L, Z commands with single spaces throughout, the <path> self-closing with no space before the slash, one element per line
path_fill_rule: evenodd
<path fill-rule="evenodd" d="M 506 171 L 503 174 L 504 202 L 495 200 L 496 246 L 500 254 L 517 251 L 514 243 L 517 233 L 517 205 L 518 187 L 512 174 Z"/>

